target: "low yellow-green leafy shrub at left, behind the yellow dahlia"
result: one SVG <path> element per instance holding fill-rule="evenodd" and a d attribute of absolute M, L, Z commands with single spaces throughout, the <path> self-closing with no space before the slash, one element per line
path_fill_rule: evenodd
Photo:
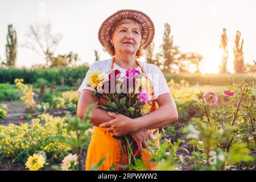
<path fill-rule="evenodd" d="M 0 160 L 10 159 L 11 163 L 24 163 L 28 156 L 44 151 L 48 162 L 59 163 L 71 151 L 71 147 L 57 140 L 51 143 L 46 140 L 60 134 L 61 128 L 67 125 L 66 119 L 43 114 L 32 119 L 31 124 L 0 125 Z M 61 135 L 76 137 L 72 131 L 66 133 L 61 130 Z"/>

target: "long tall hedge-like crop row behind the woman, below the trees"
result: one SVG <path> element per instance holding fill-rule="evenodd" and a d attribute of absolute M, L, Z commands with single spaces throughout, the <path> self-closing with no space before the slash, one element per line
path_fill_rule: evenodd
<path fill-rule="evenodd" d="M 14 84 L 15 78 L 23 78 L 26 84 L 35 84 L 39 78 L 43 78 L 48 83 L 55 82 L 56 85 L 76 86 L 81 84 L 84 79 L 88 67 L 81 66 L 77 68 L 48 68 L 48 69 L 15 69 L 0 68 L 0 83 Z M 234 78 L 236 82 L 244 81 L 245 77 L 249 76 L 249 73 L 235 74 L 207 74 L 201 75 L 198 73 L 164 73 L 167 82 L 173 79 L 175 82 L 181 80 L 187 80 L 189 84 L 195 85 L 232 85 L 232 81 L 229 81 L 229 76 Z"/>

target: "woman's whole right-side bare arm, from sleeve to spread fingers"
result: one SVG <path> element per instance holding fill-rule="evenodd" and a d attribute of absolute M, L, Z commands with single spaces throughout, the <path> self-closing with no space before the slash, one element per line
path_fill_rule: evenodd
<path fill-rule="evenodd" d="M 106 131 L 112 132 L 117 136 L 122 136 L 146 129 L 163 127 L 178 119 L 176 104 L 170 93 L 160 95 L 156 102 L 159 105 L 158 109 L 135 119 L 122 114 L 108 112 L 114 119 L 102 123 L 100 127 L 108 127 Z"/>

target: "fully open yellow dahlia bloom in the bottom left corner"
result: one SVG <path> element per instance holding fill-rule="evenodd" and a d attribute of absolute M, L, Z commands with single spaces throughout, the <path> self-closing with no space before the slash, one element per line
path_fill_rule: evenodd
<path fill-rule="evenodd" d="M 44 166 L 43 155 L 34 154 L 33 156 L 29 156 L 25 165 L 30 171 L 36 171 L 39 168 L 42 168 Z"/>

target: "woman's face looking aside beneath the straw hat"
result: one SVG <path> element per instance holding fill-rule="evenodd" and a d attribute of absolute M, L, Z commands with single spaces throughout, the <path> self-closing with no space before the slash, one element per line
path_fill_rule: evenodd
<path fill-rule="evenodd" d="M 115 54 L 136 53 L 141 44 L 142 35 L 139 23 L 126 20 L 115 28 L 111 43 L 114 45 Z"/>

